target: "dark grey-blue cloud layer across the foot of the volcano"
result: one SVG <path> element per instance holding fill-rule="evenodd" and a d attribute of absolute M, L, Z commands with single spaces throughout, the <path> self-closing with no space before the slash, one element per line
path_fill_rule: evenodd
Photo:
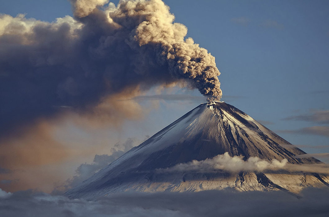
<path fill-rule="evenodd" d="M 32 191 L 0 196 L 0 216 L 328 216 L 329 188 L 284 192 L 163 192 L 70 200 Z"/>

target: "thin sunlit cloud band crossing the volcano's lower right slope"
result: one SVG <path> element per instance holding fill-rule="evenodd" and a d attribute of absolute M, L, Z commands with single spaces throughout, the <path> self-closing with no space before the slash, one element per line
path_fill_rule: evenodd
<path fill-rule="evenodd" d="M 300 156 L 299 156 L 300 157 Z M 303 157 L 303 156 L 301 156 Z M 310 157 L 310 156 L 307 156 Z M 225 170 L 229 172 L 240 171 L 275 171 L 287 170 L 290 172 L 312 172 L 329 174 L 329 166 L 324 163 L 320 164 L 291 164 L 287 159 L 281 161 L 273 159 L 271 162 L 262 160 L 259 157 L 249 157 L 246 161 L 241 156 L 231 157 L 228 152 L 223 155 L 217 155 L 214 158 L 205 160 L 192 160 L 188 163 L 180 163 L 166 169 L 158 169 L 160 173 L 180 172 L 180 171 L 200 171 L 215 172 L 217 170 Z"/>

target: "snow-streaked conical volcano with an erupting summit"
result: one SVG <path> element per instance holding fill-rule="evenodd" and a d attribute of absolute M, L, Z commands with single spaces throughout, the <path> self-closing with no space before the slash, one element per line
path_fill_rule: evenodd
<path fill-rule="evenodd" d="M 65 194 L 88 200 L 114 192 L 202 191 L 230 189 L 237 191 L 283 190 L 297 194 L 305 187 L 327 187 L 324 174 L 284 171 L 171 171 L 192 161 L 218 155 L 258 157 L 290 164 L 321 163 L 255 121 L 243 111 L 224 102 L 201 104 L 156 133 L 148 140 L 113 161 L 88 180 Z"/>

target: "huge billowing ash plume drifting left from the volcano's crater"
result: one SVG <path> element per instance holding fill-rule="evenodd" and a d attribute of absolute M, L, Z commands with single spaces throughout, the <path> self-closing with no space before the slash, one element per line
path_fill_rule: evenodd
<path fill-rule="evenodd" d="M 188 82 L 222 93 L 215 58 L 161 0 L 71 0 L 74 16 L 48 23 L 0 15 L 0 133 L 59 107 L 88 111 L 113 94 Z"/>

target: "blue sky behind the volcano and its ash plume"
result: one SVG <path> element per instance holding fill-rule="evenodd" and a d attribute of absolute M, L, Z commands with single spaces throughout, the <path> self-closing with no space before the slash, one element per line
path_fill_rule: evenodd
<path fill-rule="evenodd" d="M 175 15 L 175 22 L 187 26 L 188 36 L 215 56 L 221 72 L 223 101 L 308 153 L 329 152 L 328 121 L 321 121 L 328 114 L 322 115 L 320 121 L 315 118 L 321 111 L 329 110 L 328 1 L 164 2 Z M 12 16 L 24 13 L 27 18 L 48 22 L 72 16 L 66 0 L 1 0 L 0 12 Z M 177 87 L 162 94 L 200 96 L 197 90 Z M 204 100 L 158 100 L 156 106 L 150 107 L 154 102 L 141 100 L 144 110 L 152 109 L 142 119 L 126 121 L 115 130 L 104 127 L 95 132 L 91 128 L 79 129 L 73 123 L 58 124 L 62 128 L 57 128 L 57 139 L 123 142 L 128 137 L 137 137 L 142 140 Z M 314 126 L 323 127 L 322 135 L 310 131 Z M 100 153 L 91 152 L 87 160 L 77 160 L 72 168 L 92 160 L 94 154 Z"/>

